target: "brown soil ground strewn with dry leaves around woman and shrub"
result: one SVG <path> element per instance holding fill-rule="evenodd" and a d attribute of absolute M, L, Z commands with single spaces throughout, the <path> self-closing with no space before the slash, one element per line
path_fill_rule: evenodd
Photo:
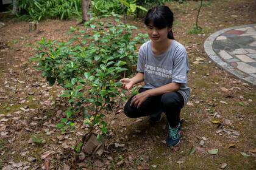
<path fill-rule="evenodd" d="M 60 89 L 48 87 L 29 61 L 36 41 L 42 37 L 65 41 L 68 28 L 76 21 L 40 21 L 37 30 L 29 32 L 28 22 L 1 14 L 0 22 L 5 25 L 0 29 L 0 168 L 21 163 L 41 169 L 45 163 L 41 155 L 52 151 L 50 169 L 256 169 L 256 89 L 218 69 L 204 52 L 205 39 L 216 30 L 255 23 L 256 1 L 209 2 L 199 16 L 199 26 L 204 29 L 199 35 L 188 33 L 196 20 L 198 2 L 168 5 L 176 19 L 174 36 L 186 47 L 190 63 L 192 94 L 181 113 L 182 141 L 167 148 L 163 143 L 165 119 L 151 126 L 146 118 L 127 118 L 120 102 L 116 112 L 107 115 L 104 155 L 76 164 L 70 146 L 82 137 L 84 127 L 77 122 L 76 133 L 66 134 L 55 129 L 65 110 L 58 97 Z M 143 22 L 130 20 L 129 24 L 146 33 Z M 37 144 L 35 138 L 42 141 Z M 121 145 L 115 147 L 115 143 Z M 190 154 L 191 148 L 196 152 Z M 218 149 L 218 153 L 211 155 L 210 149 Z"/>

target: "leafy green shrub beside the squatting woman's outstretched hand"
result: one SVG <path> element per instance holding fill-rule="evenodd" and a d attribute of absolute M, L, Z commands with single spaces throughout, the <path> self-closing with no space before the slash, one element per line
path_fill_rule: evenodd
<path fill-rule="evenodd" d="M 74 127 L 75 118 L 82 114 L 90 131 L 99 128 L 105 134 L 102 110 L 115 106 L 115 98 L 121 95 L 119 79 L 124 72 L 132 73 L 137 46 L 146 41 L 146 35 L 139 33 L 132 38 L 136 27 L 119 19 L 101 22 L 92 18 L 85 27 L 87 30 L 71 27 L 73 38 L 68 42 L 41 39 L 31 60 L 37 61 L 37 69 L 50 86 L 57 82 L 63 87 L 60 96 L 68 99 L 66 118 L 57 127 Z"/>

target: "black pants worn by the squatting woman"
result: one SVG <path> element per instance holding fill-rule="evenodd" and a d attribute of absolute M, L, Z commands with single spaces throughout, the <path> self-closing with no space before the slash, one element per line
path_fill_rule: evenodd
<path fill-rule="evenodd" d="M 139 93 L 144 92 L 146 88 L 141 88 Z M 178 92 L 168 92 L 162 95 L 149 97 L 144 101 L 140 107 L 130 106 L 130 101 L 132 97 L 129 98 L 126 105 L 124 106 L 124 114 L 130 118 L 144 117 L 157 112 L 164 112 L 166 118 L 171 127 L 176 127 L 180 121 L 180 110 L 183 107 L 184 100 L 181 94 Z"/>

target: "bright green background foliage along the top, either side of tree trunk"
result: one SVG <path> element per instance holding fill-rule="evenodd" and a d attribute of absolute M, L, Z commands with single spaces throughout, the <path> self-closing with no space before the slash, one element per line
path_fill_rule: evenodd
<path fill-rule="evenodd" d="M 93 0 L 90 13 L 93 16 L 105 16 L 125 12 L 128 15 L 143 17 L 146 9 L 166 1 L 168 0 Z M 82 15 L 80 0 L 20 0 L 18 5 L 18 17 L 30 21 L 46 18 L 71 19 Z"/>

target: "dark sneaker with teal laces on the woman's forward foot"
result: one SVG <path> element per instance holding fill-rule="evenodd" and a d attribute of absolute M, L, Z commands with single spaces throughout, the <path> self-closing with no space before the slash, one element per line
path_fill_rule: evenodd
<path fill-rule="evenodd" d="M 169 126 L 168 128 L 168 137 L 166 138 L 166 144 L 168 146 L 176 146 L 177 144 L 180 143 L 180 138 L 181 138 L 181 126 L 180 123 L 172 128 Z"/>

